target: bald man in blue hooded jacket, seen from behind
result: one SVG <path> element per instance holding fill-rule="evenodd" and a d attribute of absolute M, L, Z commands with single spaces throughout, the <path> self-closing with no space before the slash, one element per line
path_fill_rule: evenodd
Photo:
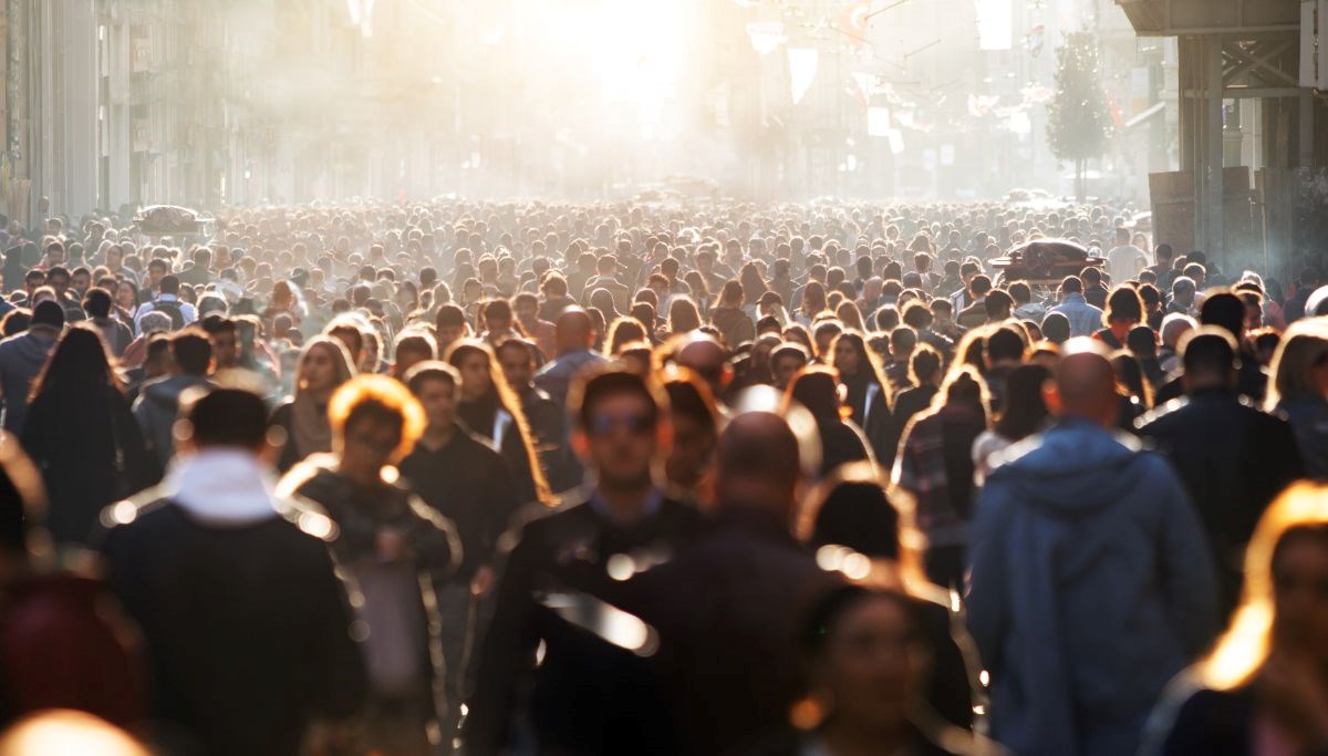
<path fill-rule="evenodd" d="M 1112 430 L 1101 344 L 1065 343 L 1046 401 L 1057 423 L 997 461 L 972 530 L 992 735 L 1027 756 L 1134 753 L 1163 686 L 1216 631 L 1212 559 L 1175 472 Z"/>

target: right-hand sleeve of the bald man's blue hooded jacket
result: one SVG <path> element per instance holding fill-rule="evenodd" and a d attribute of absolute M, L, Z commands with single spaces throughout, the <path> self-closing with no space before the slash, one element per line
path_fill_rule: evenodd
<path fill-rule="evenodd" d="M 1161 508 L 1163 595 L 1171 624 L 1190 658 L 1202 652 L 1218 631 L 1218 582 L 1207 535 L 1185 486 L 1166 462 L 1149 454 Z"/>

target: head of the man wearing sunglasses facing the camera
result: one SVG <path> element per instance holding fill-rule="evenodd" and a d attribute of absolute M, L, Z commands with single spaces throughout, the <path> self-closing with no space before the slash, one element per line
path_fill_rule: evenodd
<path fill-rule="evenodd" d="M 668 452 L 668 400 L 637 373 L 604 368 L 580 376 L 567 397 L 572 448 L 602 485 L 649 482 Z"/>

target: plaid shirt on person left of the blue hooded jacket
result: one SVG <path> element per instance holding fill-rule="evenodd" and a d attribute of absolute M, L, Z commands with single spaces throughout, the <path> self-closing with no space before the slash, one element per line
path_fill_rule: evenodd
<path fill-rule="evenodd" d="M 946 404 L 908 425 L 894 482 L 916 500 L 918 527 L 931 546 L 968 543 L 973 517 L 973 441 L 987 428 L 976 408 Z"/>

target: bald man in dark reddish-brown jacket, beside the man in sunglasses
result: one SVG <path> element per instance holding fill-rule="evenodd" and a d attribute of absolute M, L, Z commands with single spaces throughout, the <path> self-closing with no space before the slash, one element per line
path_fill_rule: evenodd
<path fill-rule="evenodd" d="M 803 602 L 839 585 L 790 534 L 799 448 L 784 417 L 737 415 L 716 450 L 709 527 L 668 563 L 607 586 L 668 648 L 680 753 L 728 753 L 776 732 L 798 696 L 793 626 Z"/>

